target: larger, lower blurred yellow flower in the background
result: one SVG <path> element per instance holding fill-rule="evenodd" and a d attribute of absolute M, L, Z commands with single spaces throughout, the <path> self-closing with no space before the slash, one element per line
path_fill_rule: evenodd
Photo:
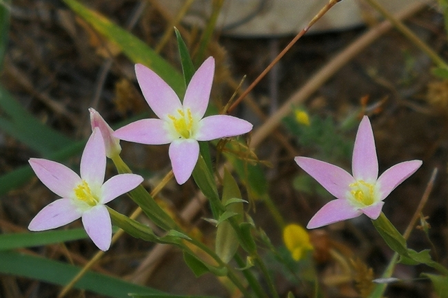
<path fill-rule="evenodd" d="M 306 251 L 313 249 L 311 242 L 309 242 L 307 231 L 298 224 L 285 226 L 283 229 L 283 242 L 285 242 L 286 248 L 296 261 L 300 260 Z"/>

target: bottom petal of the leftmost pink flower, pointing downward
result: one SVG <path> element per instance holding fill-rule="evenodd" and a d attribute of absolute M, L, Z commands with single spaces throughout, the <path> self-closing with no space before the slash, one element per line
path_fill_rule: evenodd
<path fill-rule="evenodd" d="M 101 251 L 107 251 L 112 241 L 112 222 L 108 209 L 104 205 L 96 205 L 83 213 L 85 232 Z"/>

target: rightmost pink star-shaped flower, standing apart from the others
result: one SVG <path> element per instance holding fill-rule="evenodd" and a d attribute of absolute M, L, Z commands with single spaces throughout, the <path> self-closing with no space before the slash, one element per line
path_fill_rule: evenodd
<path fill-rule="evenodd" d="M 307 228 L 318 228 L 348 220 L 358 217 L 361 213 L 376 220 L 387 195 L 422 165 L 421 160 L 400 162 L 378 178 L 374 133 L 367 116 L 364 116 L 356 134 L 352 157 L 353 175 L 340 167 L 314 158 L 298 156 L 294 160 L 336 197 L 336 200 L 325 204 L 309 220 Z"/>

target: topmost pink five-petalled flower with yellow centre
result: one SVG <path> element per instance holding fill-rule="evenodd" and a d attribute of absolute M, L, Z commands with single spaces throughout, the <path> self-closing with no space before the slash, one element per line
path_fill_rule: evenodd
<path fill-rule="evenodd" d="M 135 72 L 143 96 L 159 119 L 130 123 L 117 129 L 114 136 L 147 145 L 171 143 L 168 153 L 179 184 L 185 183 L 192 175 L 199 156 L 198 141 L 238 136 L 252 129 L 252 124 L 233 116 L 203 118 L 213 83 L 212 57 L 207 58 L 192 77 L 183 103 L 173 89 L 149 68 L 136 64 Z"/>

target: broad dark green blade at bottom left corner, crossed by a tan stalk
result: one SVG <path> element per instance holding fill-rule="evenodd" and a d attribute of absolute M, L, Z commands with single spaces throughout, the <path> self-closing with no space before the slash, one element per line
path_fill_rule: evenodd
<path fill-rule="evenodd" d="M 78 266 L 14 251 L 0 251 L 0 260 L 0 273 L 2 274 L 28 277 L 60 286 L 68 284 L 81 270 Z M 145 286 L 131 284 L 116 277 L 92 272 L 81 277 L 74 288 L 114 298 L 127 298 L 130 292 L 142 295 L 163 293 Z"/>

